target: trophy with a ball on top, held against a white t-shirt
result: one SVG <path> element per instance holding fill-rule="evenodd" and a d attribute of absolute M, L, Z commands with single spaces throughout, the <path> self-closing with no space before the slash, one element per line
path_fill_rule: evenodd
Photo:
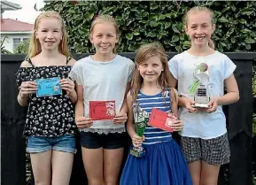
<path fill-rule="evenodd" d="M 209 81 L 209 67 L 206 65 L 206 63 L 201 63 L 195 72 L 195 77 L 197 81 L 194 82 L 192 85 L 192 89 L 190 91 L 195 91 L 194 95 L 194 101 L 195 104 L 192 104 L 192 107 L 195 108 L 211 108 L 211 106 L 208 105 L 210 102 L 210 96 L 207 95 L 207 89 L 206 84 Z"/>

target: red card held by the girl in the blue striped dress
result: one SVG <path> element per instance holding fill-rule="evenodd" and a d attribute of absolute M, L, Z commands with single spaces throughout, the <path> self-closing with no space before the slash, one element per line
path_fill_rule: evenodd
<path fill-rule="evenodd" d="M 163 112 L 156 108 L 153 108 L 151 111 L 149 125 L 151 125 L 152 127 L 161 128 L 169 132 L 173 132 L 173 128 L 171 128 L 168 124 L 175 119 L 175 116 L 168 116 L 168 112 Z"/>

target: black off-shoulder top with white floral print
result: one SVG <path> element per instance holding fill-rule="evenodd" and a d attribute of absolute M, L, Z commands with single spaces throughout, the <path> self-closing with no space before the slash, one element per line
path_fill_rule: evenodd
<path fill-rule="evenodd" d="M 18 86 L 23 81 L 35 81 L 52 77 L 68 78 L 72 66 L 34 66 L 20 67 L 16 73 Z M 62 95 L 36 97 L 30 96 L 24 135 L 58 136 L 74 134 L 74 104 L 66 91 Z"/>

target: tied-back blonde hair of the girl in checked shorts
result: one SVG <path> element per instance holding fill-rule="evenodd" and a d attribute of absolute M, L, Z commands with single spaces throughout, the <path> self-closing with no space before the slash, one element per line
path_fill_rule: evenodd
<path fill-rule="evenodd" d="M 194 12 L 208 12 L 212 19 L 212 25 L 214 24 L 214 15 L 210 9 L 206 8 L 205 6 L 195 6 L 195 7 L 191 8 L 188 12 L 186 12 L 186 14 L 184 16 L 185 27 L 188 27 L 188 17 L 190 15 L 190 13 L 194 13 Z M 214 45 L 214 42 L 212 39 L 210 39 L 208 41 L 208 45 L 210 48 L 212 48 L 214 50 L 215 45 Z"/>

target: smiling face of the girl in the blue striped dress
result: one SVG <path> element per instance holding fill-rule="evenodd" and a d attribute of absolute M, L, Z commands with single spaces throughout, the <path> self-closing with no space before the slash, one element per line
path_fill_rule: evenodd
<path fill-rule="evenodd" d="M 159 76 L 163 71 L 163 65 L 159 56 L 152 56 L 137 67 L 144 82 L 150 83 L 159 81 Z"/>

